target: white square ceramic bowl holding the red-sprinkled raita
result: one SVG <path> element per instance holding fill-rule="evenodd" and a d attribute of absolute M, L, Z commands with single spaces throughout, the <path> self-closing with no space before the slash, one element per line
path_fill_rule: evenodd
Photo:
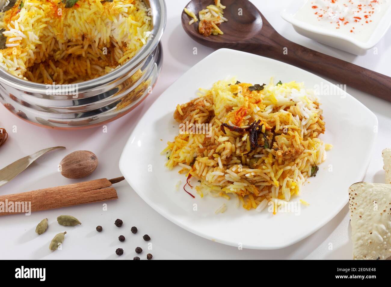
<path fill-rule="evenodd" d="M 384 16 L 380 19 L 378 25 L 375 27 L 372 36 L 368 41 L 362 42 L 354 39 L 353 37 L 346 37 L 343 34 L 332 31 L 330 29 L 325 29 L 323 27 L 318 27 L 311 25 L 305 21 L 300 21 L 294 18 L 294 14 L 303 7 L 306 0 L 294 0 L 292 1 L 283 11 L 281 12 L 281 17 L 292 24 L 293 28 L 299 34 L 314 39 L 319 43 L 323 43 L 328 46 L 332 46 L 346 52 L 355 54 L 355 55 L 364 55 L 367 50 L 373 48 L 379 41 L 382 39 L 384 34 L 391 26 L 391 6 L 386 11 Z"/>

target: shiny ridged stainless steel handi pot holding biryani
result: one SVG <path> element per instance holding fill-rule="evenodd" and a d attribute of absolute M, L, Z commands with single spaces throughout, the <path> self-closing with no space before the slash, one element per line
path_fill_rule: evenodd
<path fill-rule="evenodd" d="M 122 66 L 77 85 L 23 80 L 0 68 L 0 102 L 30 123 L 56 129 L 88 128 L 117 119 L 151 93 L 163 63 L 160 44 L 167 12 L 164 0 L 144 0 L 152 11 L 152 39 Z"/>

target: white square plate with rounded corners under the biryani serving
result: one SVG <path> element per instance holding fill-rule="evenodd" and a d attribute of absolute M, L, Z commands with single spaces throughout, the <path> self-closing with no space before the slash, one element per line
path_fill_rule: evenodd
<path fill-rule="evenodd" d="M 195 98 L 199 87 L 209 88 L 213 82 L 233 76 L 253 84 L 266 83 L 274 77 L 276 82 L 304 82 L 307 88 L 335 87 L 283 62 L 235 50 L 217 50 L 172 84 L 143 115 L 121 155 L 120 170 L 153 209 L 194 234 L 243 248 L 283 248 L 318 230 L 347 203 L 348 187 L 361 181 L 368 168 L 377 118 L 337 87 L 331 89 L 331 94 L 320 96 L 326 122 L 321 139 L 334 148 L 319 166 L 317 176 L 303 186 L 300 196 L 292 198 L 310 203 L 308 207 L 301 205 L 300 215 L 248 211 L 236 207 L 235 200 L 200 198 L 194 190 L 193 199 L 182 189 L 185 175 L 178 174 L 179 168 L 169 171 L 164 165 L 166 157 L 160 155 L 167 141 L 173 141 L 179 132 L 172 115 L 178 103 Z M 179 180 L 182 184 L 176 191 Z M 215 214 L 223 202 L 228 209 Z"/>

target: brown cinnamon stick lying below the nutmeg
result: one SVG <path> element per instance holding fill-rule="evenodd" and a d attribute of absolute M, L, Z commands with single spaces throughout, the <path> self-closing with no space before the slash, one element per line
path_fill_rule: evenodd
<path fill-rule="evenodd" d="M 116 178 L 113 182 L 119 182 Z M 67 207 L 72 205 L 118 199 L 117 191 L 106 178 L 68 184 L 45 189 L 37 189 L 25 193 L 0 196 L 0 216 L 28 212 L 21 211 L 21 203 L 31 203 L 30 212 Z M 8 203 L 8 204 L 6 204 Z M 10 210 L 9 203 L 14 205 Z M 7 205 L 7 206 L 5 206 Z"/>

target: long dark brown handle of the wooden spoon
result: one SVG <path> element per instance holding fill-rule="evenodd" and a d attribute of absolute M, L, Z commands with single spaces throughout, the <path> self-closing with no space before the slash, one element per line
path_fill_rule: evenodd
<path fill-rule="evenodd" d="M 258 43 L 249 43 L 246 50 L 324 75 L 337 81 L 336 84 L 346 84 L 391 102 L 391 77 L 298 45 L 274 29 L 269 32 L 264 35 L 262 31 L 256 39 Z"/>

